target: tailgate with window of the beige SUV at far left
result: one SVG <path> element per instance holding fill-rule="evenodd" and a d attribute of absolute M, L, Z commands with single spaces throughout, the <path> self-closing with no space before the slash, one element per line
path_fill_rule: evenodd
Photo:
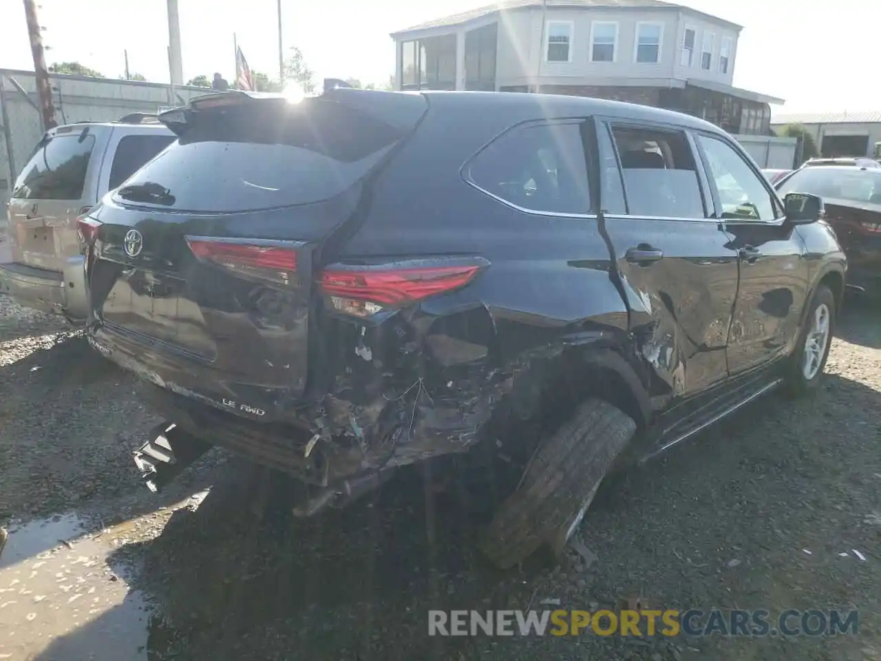
<path fill-rule="evenodd" d="M 89 181 L 100 169 L 100 130 L 89 125 L 49 131 L 22 169 L 9 207 L 12 261 L 62 271 L 79 246 L 76 219 L 94 202 Z"/>

